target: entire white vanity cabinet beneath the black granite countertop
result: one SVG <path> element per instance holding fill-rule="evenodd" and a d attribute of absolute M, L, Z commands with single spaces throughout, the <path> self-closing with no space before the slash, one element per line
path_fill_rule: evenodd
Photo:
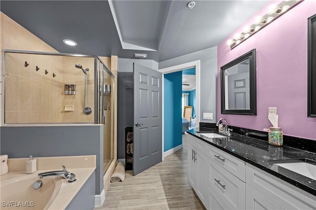
<path fill-rule="evenodd" d="M 207 210 L 316 209 L 316 196 L 191 135 L 188 176 Z"/>

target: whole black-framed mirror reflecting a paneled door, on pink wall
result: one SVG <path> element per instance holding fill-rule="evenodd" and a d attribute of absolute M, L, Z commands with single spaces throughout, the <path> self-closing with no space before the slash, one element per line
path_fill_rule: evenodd
<path fill-rule="evenodd" d="M 256 49 L 221 67 L 221 113 L 257 115 Z"/>

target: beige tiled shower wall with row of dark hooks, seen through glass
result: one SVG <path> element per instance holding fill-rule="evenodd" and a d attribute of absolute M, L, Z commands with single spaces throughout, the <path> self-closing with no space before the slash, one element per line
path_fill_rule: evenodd
<path fill-rule="evenodd" d="M 29 64 L 27 67 L 25 61 Z M 37 66 L 39 70 L 36 70 Z M 60 56 L 7 53 L 5 72 L 9 75 L 5 77 L 5 123 L 61 122 L 61 67 Z"/>

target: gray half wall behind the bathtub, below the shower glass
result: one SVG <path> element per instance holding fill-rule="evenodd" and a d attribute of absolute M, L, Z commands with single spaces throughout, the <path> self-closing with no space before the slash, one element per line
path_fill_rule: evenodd
<path fill-rule="evenodd" d="M 103 125 L 0 127 L 0 154 L 9 158 L 96 155 L 95 194 L 103 185 Z M 67 166 L 66 166 L 67 167 Z"/>

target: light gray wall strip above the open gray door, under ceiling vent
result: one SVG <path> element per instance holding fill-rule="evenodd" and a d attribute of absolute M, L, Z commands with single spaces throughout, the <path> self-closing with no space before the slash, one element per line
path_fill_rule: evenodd
<path fill-rule="evenodd" d="M 158 70 L 158 62 L 154 60 L 118 58 L 118 72 L 133 72 L 133 63 Z"/>

